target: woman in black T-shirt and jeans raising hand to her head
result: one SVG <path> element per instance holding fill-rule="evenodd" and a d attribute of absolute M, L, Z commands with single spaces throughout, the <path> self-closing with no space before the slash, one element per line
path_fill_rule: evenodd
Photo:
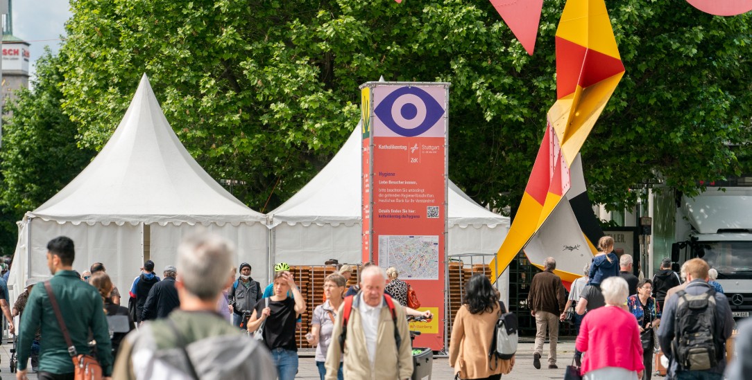
<path fill-rule="evenodd" d="M 248 332 L 262 339 L 271 351 L 277 366 L 279 380 L 292 380 L 298 372 L 298 345 L 296 342 L 296 315 L 305 312 L 305 299 L 295 284 L 293 274 L 287 271 L 274 273 L 274 295 L 256 303 L 248 319 Z M 293 297 L 287 297 L 287 293 Z"/>

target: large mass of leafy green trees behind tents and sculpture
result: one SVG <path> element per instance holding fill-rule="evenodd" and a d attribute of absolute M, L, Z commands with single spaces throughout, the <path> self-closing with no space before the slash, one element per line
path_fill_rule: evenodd
<path fill-rule="evenodd" d="M 145 72 L 199 163 L 246 181 L 236 195 L 268 211 L 344 142 L 360 83 L 447 81 L 450 176 L 482 204 L 514 207 L 556 97 L 563 6 L 545 3 L 531 57 L 488 2 L 78 0 L 64 110 L 99 149 Z M 750 137 L 752 14 L 608 6 L 626 75 L 583 148 L 594 201 L 633 204 L 629 188 L 658 177 L 692 194 L 747 171 L 733 146 Z"/>

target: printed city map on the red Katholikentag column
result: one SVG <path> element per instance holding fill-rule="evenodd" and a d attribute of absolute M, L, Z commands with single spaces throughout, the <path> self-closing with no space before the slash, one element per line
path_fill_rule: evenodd
<path fill-rule="evenodd" d="M 381 235 L 380 267 L 395 267 L 400 279 L 438 279 L 438 236 Z"/>

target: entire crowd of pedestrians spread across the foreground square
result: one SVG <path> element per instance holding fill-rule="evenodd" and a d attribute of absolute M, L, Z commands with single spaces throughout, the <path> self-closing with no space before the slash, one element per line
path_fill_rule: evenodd
<path fill-rule="evenodd" d="M 572 282 L 569 297 L 547 258 L 529 287 L 527 307 L 535 318 L 532 366 L 558 369 L 560 321 L 577 335 L 573 366 L 587 380 L 649 380 L 655 356 L 667 362 L 667 378 L 744 378 L 748 364 L 726 368 L 726 339 L 734 321 L 717 273 L 700 258 L 684 263 L 681 275 L 666 259 L 653 279 L 635 276 L 632 256 L 617 255 L 603 237 L 599 254 Z M 252 267 L 233 267 L 233 248 L 213 234 L 199 233 L 180 245 L 176 265 L 161 277 L 144 262 L 129 289 L 128 307 L 105 265 L 75 272 L 74 242 L 57 237 L 47 245 L 52 278 L 29 279 L 12 309 L 0 279 L 0 307 L 17 328 L 17 378 L 25 379 L 31 358 L 38 378 L 74 378 L 71 357 L 89 354 L 104 378 L 296 378 L 296 333 L 307 305 L 289 265 L 274 266 L 262 288 Z M 365 263 L 359 282 L 347 286 L 354 267 L 343 265 L 323 283 L 305 335 L 316 347 L 320 378 L 410 378 L 413 373 L 408 315 L 431 318 L 408 306 L 409 285 L 396 268 Z M 352 297 L 348 297 L 350 294 Z M 5 303 L 2 301 L 5 300 Z M 500 318 L 509 312 L 489 279 L 465 282 L 462 306 L 453 316 L 449 363 L 459 379 L 499 379 L 515 366 L 489 347 Z M 752 352 L 752 322 L 739 329 L 738 351 Z"/>

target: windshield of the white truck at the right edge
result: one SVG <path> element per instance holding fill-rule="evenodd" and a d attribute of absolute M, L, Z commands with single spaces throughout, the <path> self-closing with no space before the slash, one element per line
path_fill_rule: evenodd
<path fill-rule="evenodd" d="M 719 279 L 752 279 L 752 242 L 698 242 L 695 254 L 718 271 Z"/>

